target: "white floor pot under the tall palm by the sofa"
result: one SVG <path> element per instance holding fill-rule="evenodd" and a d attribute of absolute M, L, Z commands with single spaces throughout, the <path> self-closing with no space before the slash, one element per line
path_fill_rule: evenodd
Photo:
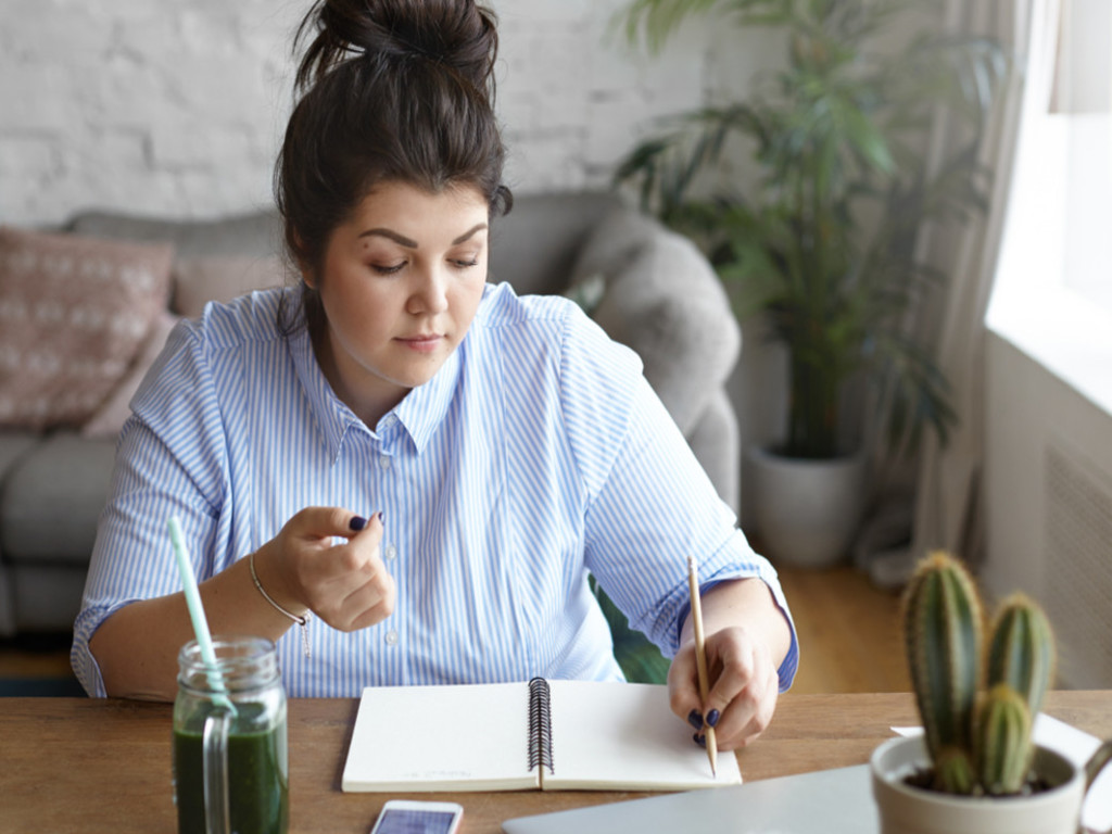
<path fill-rule="evenodd" d="M 745 488 L 767 555 L 796 567 L 844 562 L 865 506 L 865 456 L 812 460 L 751 446 L 746 458 Z"/>

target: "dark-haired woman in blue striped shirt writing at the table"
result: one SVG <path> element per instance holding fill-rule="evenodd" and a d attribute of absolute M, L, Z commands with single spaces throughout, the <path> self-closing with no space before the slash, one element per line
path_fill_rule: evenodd
<path fill-rule="evenodd" d="M 570 302 L 486 284 L 512 205 L 493 13 L 324 0 L 306 37 L 276 169 L 300 286 L 210 305 L 136 395 L 75 628 L 80 679 L 173 697 L 191 637 L 176 515 L 212 632 L 276 641 L 291 695 L 620 678 L 589 572 L 674 655 L 672 707 L 696 738 L 705 723 L 723 749 L 747 743 L 795 669 L 775 573 L 636 357 Z"/>

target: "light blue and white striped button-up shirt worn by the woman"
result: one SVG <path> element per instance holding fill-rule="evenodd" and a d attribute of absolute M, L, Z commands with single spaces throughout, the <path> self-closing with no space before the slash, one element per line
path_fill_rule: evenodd
<path fill-rule="evenodd" d="M 629 349 L 574 304 L 486 288 L 455 354 L 377 426 L 332 393 L 280 294 L 185 321 L 132 400 L 75 625 L 73 667 L 103 684 L 89 637 L 129 602 L 180 589 L 167 535 L 181 519 L 198 580 L 259 548 L 298 510 L 386 519 L 397 584 L 383 623 L 309 625 L 278 644 L 291 696 L 364 686 L 620 679 L 593 573 L 665 655 L 687 614 L 686 556 L 704 587 L 757 576 L 787 605 Z M 795 674 L 792 651 L 781 687 Z"/>

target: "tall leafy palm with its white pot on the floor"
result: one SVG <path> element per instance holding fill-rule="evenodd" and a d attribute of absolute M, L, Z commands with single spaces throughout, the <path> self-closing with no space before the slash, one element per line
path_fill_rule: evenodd
<path fill-rule="evenodd" d="M 685 18 L 714 10 L 739 27 L 767 27 L 785 44 L 783 67 L 757 78 L 746 100 L 669 120 L 615 179 L 699 240 L 738 317 L 762 314 L 786 348 L 787 425 L 778 443 L 748 449 L 746 488 L 771 554 L 796 564 L 846 553 L 867 494 L 865 421 L 898 456 L 924 427 L 944 441 L 955 419 L 946 380 L 910 327 L 943 278 L 916 241 L 927 221 L 983 208 L 990 172 L 976 147 L 1006 62 L 984 39 L 941 33 L 936 8 L 634 0 L 620 16 L 632 40 L 654 47 Z M 909 29 L 894 49 L 900 36 L 885 33 Z M 941 112 L 963 125 L 961 141 L 929 161 Z M 747 187 L 727 173 L 738 149 L 755 171 Z M 847 416 L 844 406 L 862 401 L 870 408 Z"/>

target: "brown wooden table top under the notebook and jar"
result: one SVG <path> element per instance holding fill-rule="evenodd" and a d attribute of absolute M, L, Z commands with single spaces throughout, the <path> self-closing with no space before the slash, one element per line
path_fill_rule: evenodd
<path fill-rule="evenodd" d="M 388 794 L 345 794 L 340 773 L 358 702 L 290 699 L 290 832 L 367 834 Z M 1112 692 L 1054 692 L 1045 712 L 1112 737 Z M 738 754 L 746 781 L 863 764 L 917 724 L 906 693 L 792 695 L 765 734 Z M 173 833 L 171 707 L 85 698 L 0 699 L 0 830 Z M 465 810 L 461 834 L 497 834 L 509 817 L 647 794 L 502 792 L 401 794 L 450 800 Z"/>

